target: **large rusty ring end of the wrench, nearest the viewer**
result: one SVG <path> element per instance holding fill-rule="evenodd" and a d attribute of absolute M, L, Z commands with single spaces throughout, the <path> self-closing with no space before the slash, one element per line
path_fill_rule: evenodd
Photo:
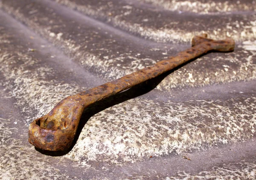
<path fill-rule="evenodd" d="M 32 121 L 29 125 L 29 143 L 48 151 L 70 148 L 83 112 L 83 106 L 78 105 L 77 101 L 70 101 L 72 98 L 63 99 L 47 115 Z"/>

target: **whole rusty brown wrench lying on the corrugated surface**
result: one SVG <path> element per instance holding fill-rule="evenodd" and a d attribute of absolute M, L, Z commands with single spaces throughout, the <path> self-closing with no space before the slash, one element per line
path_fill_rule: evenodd
<path fill-rule="evenodd" d="M 174 57 L 157 62 L 155 65 L 113 82 L 64 98 L 47 115 L 35 119 L 30 124 L 29 143 L 39 149 L 49 151 L 66 150 L 73 142 L 81 115 L 88 105 L 159 76 L 209 51 L 227 52 L 233 51 L 234 48 L 235 42 L 231 38 L 212 40 L 207 39 L 206 34 L 195 36 L 192 39 L 192 48 Z"/>

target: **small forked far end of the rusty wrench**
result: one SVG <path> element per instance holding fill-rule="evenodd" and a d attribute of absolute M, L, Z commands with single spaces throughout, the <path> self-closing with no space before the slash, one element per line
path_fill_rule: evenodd
<path fill-rule="evenodd" d="M 195 36 L 192 39 L 192 46 L 203 45 L 211 48 L 213 51 L 230 52 L 234 51 L 235 41 L 232 38 L 227 37 L 224 40 L 213 40 L 207 38 L 207 34 Z"/>

